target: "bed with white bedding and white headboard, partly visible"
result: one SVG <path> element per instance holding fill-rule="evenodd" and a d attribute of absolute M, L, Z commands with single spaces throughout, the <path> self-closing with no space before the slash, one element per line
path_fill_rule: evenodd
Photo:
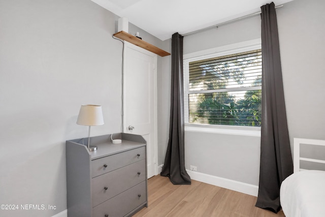
<path fill-rule="evenodd" d="M 325 140 L 294 139 L 294 174 L 281 184 L 286 217 L 325 216 Z"/>

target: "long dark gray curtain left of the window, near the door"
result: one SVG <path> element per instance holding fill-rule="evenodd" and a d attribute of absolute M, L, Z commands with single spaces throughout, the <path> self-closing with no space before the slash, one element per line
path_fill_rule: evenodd
<path fill-rule="evenodd" d="M 184 159 L 184 95 L 183 95 L 183 36 L 172 37 L 172 82 L 169 141 L 165 163 L 160 175 L 168 176 L 173 184 L 190 184 Z"/>

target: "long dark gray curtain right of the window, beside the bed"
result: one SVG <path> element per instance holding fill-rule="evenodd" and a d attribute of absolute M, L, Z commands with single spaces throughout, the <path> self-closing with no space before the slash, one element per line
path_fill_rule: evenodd
<path fill-rule="evenodd" d="M 280 185 L 293 173 L 274 3 L 262 9 L 261 165 L 256 206 L 278 212 Z"/>

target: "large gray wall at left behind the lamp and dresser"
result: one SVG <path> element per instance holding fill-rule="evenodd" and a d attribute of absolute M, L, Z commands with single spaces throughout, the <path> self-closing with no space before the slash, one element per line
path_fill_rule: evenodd
<path fill-rule="evenodd" d="M 67 208 L 65 141 L 88 134 L 76 124 L 81 104 L 103 106 L 105 125 L 92 136 L 121 132 L 117 18 L 90 0 L 0 0 L 0 204 L 56 206 L 1 216 Z"/>

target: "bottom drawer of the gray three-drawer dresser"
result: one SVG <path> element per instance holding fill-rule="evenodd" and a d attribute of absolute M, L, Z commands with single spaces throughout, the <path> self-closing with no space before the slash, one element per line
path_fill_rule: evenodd
<path fill-rule="evenodd" d="M 93 217 L 105 217 L 105 215 L 121 217 L 145 203 L 146 199 L 146 181 L 143 181 L 135 187 L 94 207 L 92 214 Z"/>

